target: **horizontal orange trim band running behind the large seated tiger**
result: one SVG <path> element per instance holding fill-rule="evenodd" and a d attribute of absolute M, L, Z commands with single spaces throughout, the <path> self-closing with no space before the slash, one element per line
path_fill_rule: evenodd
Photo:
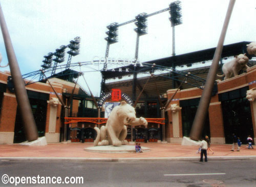
<path fill-rule="evenodd" d="M 89 122 L 95 124 L 104 124 L 108 118 L 64 118 L 66 120 L 65 124 L 78 123 L 78 122 Z M 164 125 L 164 118 L 145 118 L 147 123 L 157 123 Z"/>

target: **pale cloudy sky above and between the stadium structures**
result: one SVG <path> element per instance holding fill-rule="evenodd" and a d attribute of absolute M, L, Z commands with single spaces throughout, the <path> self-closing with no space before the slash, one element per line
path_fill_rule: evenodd
<path fill-rule="evenodd" d="M 108 29 L 113 23 L 135 19 L 140 13 L 153 13 L 165 8 L 170 0 L 1 0 L 9 34 L 22 74 L 39 70 L 48 52 L 81 37 L 80 55 L 72 63 L 90 62 L 105 57 Z M 229 0 L 181 1 L 183 23 L 175 27 L 176 55 L 216 47 Z M 148 34 L 140 37 L 140 62 L 172 56 L 172 27 L 169 12 L 148 17 Z M 224 45 L 256 41 L 256 1 L 237 0 L 228 25 Z M 119 42 L 110 46 L 109 57 L 133 59 L 136 33 L 134 23 L 119 27 Z M 66 50 L 68 51 L 68 50 Z M 3 37 L 0 36 L 1 65 L 7 64 Z M 66 55 L 67 63 L 68 54 Z M 0 71 L 9 67 L 0 68 Z M 100 94 L 99 72 L 85 72 L 90 89 Z M 79 84 L 88 90 L 79 79 Z"/>

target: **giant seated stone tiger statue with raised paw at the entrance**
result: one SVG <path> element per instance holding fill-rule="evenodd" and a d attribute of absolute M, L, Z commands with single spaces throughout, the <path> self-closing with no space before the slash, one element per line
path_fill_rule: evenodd
<path fill-rule="evenodd" d="M 94 146 L 126 145 L 126 125 L 147 126 L 147 121 L 143 117 L 136 118 L 136 112 L 133 106 L 127 104 L 125 101 L 122 101 L 119 106 L 115 106 L 115 108 L 112 110 L 105 126 L 101 126 L 100 129 L 98 127 L 94 127 L 94 129 L 97 132 L 97 137 L 94 141 Z"/>

